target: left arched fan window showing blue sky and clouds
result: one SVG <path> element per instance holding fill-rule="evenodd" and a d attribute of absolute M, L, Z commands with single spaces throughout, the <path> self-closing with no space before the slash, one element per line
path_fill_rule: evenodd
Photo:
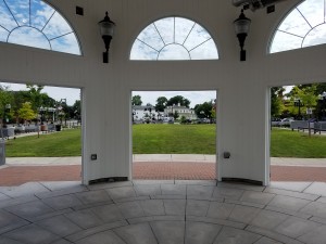
<path fill-rule="evenodd" d="M 41 0 L 0 0 L 0 41 L 80 55 L 70 24 Z"/>

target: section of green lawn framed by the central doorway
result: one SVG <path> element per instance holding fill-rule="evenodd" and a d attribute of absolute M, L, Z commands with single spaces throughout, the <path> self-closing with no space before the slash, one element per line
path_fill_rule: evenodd
<path fill-rule="evenodd" d="M 135 154 L 216 153 L 214 125 L 135 125 L 133 139 Z"/>

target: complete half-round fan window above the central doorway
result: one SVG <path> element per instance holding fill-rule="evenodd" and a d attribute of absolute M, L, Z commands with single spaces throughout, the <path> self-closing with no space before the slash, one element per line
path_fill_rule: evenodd
<path fill-rule="evenodd" d="M 217 60 L 211 35 L 183 17 L 165 17 L 148 25 L 136 38 L 130 60 Z"/>

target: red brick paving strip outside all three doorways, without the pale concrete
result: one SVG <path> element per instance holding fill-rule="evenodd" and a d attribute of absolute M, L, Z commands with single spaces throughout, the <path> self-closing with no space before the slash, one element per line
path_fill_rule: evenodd
<path fill-rule="evenodd" d="M 134 163 L 134 179 L 215 179 L 211 163 Z M 326 167 L 272 166 L 272 181 L 323 181 Z M 80 166 L 11 166 L 0 169 L 0 185 L 20 185 L 33 181 L 80 180 Z"/>

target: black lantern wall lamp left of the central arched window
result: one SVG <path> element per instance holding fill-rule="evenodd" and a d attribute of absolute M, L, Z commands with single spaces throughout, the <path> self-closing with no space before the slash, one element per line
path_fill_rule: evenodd
<path fill-rule="evenodd" d="M 105 44 L 105 52 L 103 52 L 103 63 L 109 63 L 109 49 L 110 42 L 112 40 L 114 34 L 115 24 L 112 22 L 108 15 L 108 11 L 105 12 L 105 17 L 103 21 L 99 22 L 100 33 L 103 38 Z"/>

